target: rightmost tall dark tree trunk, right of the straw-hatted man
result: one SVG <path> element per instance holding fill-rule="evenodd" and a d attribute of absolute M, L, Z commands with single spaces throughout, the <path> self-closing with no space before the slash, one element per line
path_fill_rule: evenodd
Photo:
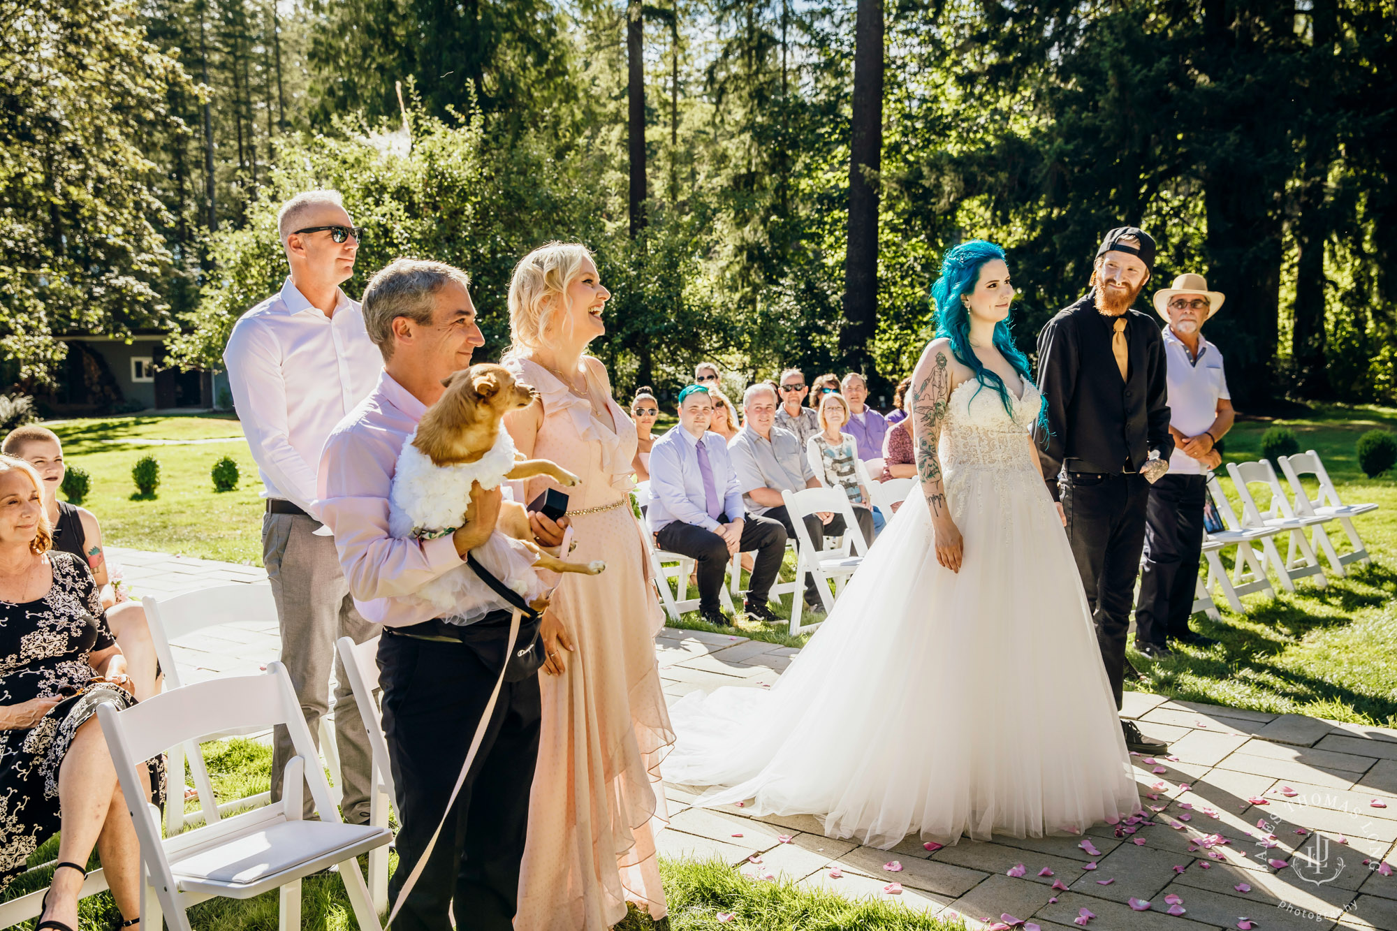
<path fill-rule="evenodd" d="M 1309 71 L 1310 126 L 1305 140 L 1305 175 L 1299 190 L 1299 218 L 1295 224 L 1296 268 L 1291 356 L 1298 389 L 1305 397 L 1330 396 L 1324 366 L 1324 243 L 1333 218 L 1329 204 L 1329 169 L 1336 136 L 1329 105 L 1333 92 L 1336 0 L 1315 0 L 1312 7 L 1313 50 Z"/>

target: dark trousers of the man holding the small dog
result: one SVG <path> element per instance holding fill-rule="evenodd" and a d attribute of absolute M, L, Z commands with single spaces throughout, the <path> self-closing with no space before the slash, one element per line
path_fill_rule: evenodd
<path fill-rule="evenodd" d="M 398 868 L 388 883 L 388 900 L 397 902 L 446 811 L 499 668 L 464 643 L 390 629 L 379 643 L 379 671 L 401 821 Z M 450 931 L 448 907 L 461 928 L 513 928 L 541 713 L 536 675 L 500 686 L 451 816 L 393 923 L 397 931 Z"/>

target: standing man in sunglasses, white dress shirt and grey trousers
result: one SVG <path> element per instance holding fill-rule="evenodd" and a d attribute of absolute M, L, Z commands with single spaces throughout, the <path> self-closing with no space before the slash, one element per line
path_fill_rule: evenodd
<path fill-rule="evenodd" d="M 330 431 L 373 390 L 383 369 L 365 331 L 359 303 L 339 289 L 353 275 L 359 229 L 332 190 L 296 194 L 277 215 L 291 264 L 282 289 L 239 317 L 224 365 L 247 445 L 263 479 L 263 563 L 277 598 L 281 661 L 291 674 L 312 737 L 330 712 L 335 668 L 335 744 L 348 822 L 369 821 L 369 737 L 335 640 L 362 643 L 379 625 L 353 607 L 335 541 L 316 535 L 320 514 L 316 474 Z M 271 791 L 281 797 L 286 762 L 295 756 L 285 728 L 272 745 Z M 313 811 L 306 795 L 306 812 Z"/>

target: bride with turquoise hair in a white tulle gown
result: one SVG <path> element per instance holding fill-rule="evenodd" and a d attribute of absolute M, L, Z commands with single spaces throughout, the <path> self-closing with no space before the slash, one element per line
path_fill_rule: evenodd
<path fill-rule="evenodd" d="M 1140 808 L 1062 519 L 1028 436 L 1003 252 L 946 254 L 912 375 L 919 488 L 770 689 L 671 710 L 665 779 L 700 805 L 813 814 L 831 837 L 1039 837 Z M 978 365 L 977 365 L 978 363 Z M 971 368 L 975 365 L 975 368 Z"/>

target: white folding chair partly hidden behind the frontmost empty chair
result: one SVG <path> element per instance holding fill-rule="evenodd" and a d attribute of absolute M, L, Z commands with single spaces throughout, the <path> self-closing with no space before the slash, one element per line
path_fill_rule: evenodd
<path fill-rule="evenodd" d="M 141 598 L 145 608 L 145 618 L 151 626 L 151 640 L 155 643 L 155 656 L 161 661 L 161 671 L 165 674 L 165 689 L 177 689 L 184 685 L 179 664 L 175 663 L 175 651 L 170 643 L 191 633 L 217 628 L 224 623 L 246 623 L 247 621 L 275 621 L 277 600 L 271 594 L 271 583 L 233 583 L 225 586 L 211 586 L 196 591 L 186 591 L 170 598 L 155 598 L 145 596 Z M 214 734 L 212 739 L 235 737 L 235 734 Z M 320 721 L 320 745 L 330 766 L 334 786 L 331 793 L 335 802 L 342 794 L 339 779 L 339 755 L 335 746 L 334 728 L 328 720 Z M 184 814 L 184 760 L 189 759 L 189 769 L 194 777 L 194 788 L 198 790 L 200 811 Z M 184 825 L 204 821 L 214 823 L 229 811 L 247 808 L 249 805 L 265 805 L 271 801 L 271 793 L 261 793 L 239 798 L 225 805 L 218 805 L 214 798 L 214 786 L 208 779 L 208 767 L 204 765 L 204 753 L 198 744 L 169 748 L 170 798 L 165 805 L 165 833 L 177 835 Z"/>

